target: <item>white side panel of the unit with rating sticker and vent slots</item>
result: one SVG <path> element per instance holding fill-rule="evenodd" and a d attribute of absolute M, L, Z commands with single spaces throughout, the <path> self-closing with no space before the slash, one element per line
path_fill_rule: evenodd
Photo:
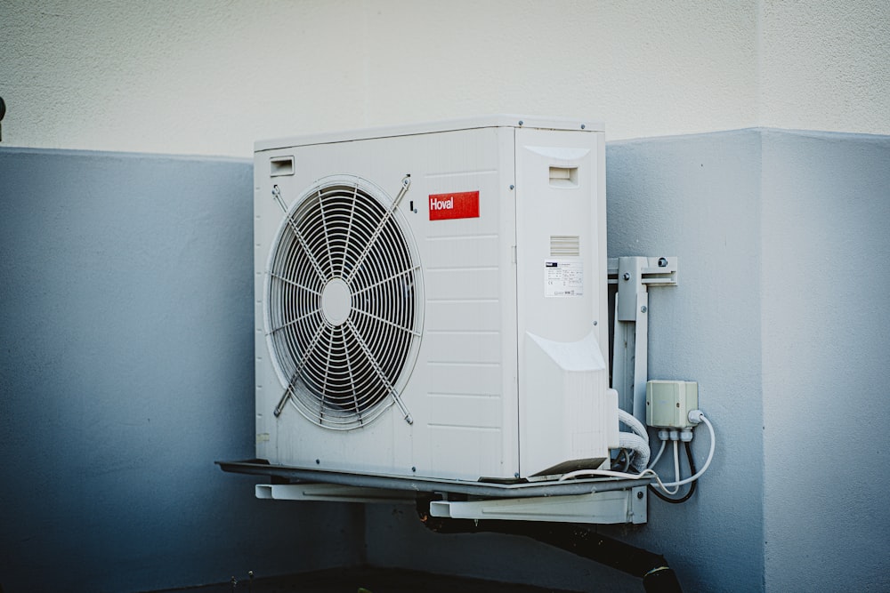
<path fill-rule="evenodd" d="M 523 475 L 608 457 L 602 136 L 516 131 Z M 541 341 L 554 345 L 527 352 Z"/>

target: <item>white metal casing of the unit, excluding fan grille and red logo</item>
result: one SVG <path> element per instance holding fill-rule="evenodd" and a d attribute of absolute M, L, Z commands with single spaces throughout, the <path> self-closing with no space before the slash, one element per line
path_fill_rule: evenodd
<path fill-rule="evenodd" d="M 256 455 L 404 476 L 511 479 L 598 467 L 618 443 L 607 389 L 601 124 L 494 116 L 266 140 L 255 147 Z M 282 166 L 281 164 L 284 163 Z M 359 429 L 287 405 L 264 311 L 270 252 L 317 180 L 350 175 L 392 200 L 416 245 L 423 330 L 401 400 Z M 430 220 L 429 196 L 479 192 L 478 217 Z M 559 268 L 548 267 L 557 263 Z M 563 270 L 568 271 L 563 271 Z M 571 294 L 570 292 L 577 292 Z"/>

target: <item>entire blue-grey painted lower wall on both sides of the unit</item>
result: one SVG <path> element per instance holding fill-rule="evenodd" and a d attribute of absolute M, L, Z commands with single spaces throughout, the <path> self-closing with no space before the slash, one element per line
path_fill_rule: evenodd
<path fill-rule="evenodd" d="M 602 531 L 686 590 L 890 589 L 890 139 L 614 142 L 607 173 L 610 256 L 680 258 L 651 291 L 650 374 L 700 382 L 718 448 L 692 501 Z M 407 507 L 255 501 L 214 467 L 253 454 L 251 196 L 247 162 L 0 149 L 4 591 L 366 561 L 640 590 Z"/>

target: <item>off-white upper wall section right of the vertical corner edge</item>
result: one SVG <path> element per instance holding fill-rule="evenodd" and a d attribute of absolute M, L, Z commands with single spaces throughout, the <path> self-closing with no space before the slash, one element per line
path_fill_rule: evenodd
<path fill-rule="evenodd" d="M 763 2 L 767 127 L 890 133 L 890 2 Z"/>

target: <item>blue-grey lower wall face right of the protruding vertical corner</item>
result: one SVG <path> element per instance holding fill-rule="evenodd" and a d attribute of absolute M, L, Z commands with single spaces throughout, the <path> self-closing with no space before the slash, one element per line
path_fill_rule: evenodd
<path fill-rule="evenodd" d="M 766 585 L 890 590 L 890 138 L 765 132 Z"/>

